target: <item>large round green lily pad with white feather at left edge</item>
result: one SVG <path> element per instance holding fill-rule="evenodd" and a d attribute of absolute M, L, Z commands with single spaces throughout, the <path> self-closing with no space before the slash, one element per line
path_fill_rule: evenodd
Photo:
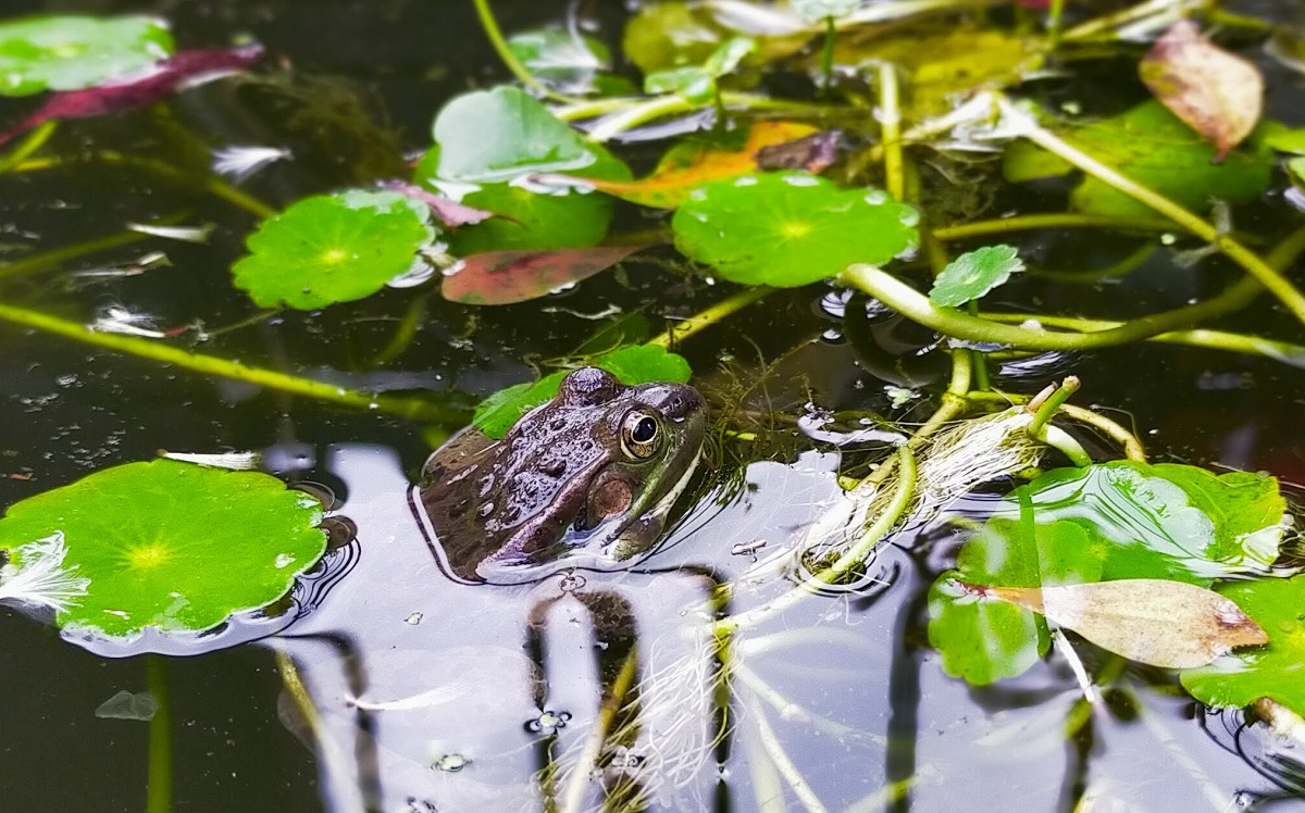
<path fill-rule="evenodd" d="M 116 466 L 9 508 L 0 596 L 54 607 L 63 629 L 202 632 L 284 595 L 326 549 L 321 518 L 317 500 L 270 475 Z"/>

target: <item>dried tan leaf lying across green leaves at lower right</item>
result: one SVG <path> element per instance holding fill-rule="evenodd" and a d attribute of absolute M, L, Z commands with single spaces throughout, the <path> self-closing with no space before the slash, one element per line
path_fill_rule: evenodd
<path fill-rule="evenodd" d="M 1047 616 L 1092 643 L 1141 663 L 1186 669 L 1238 646 L 1268 642 L 1265 630 L 1212 590 L 1134 578 L 1060 587 L 984 587 L 957 582 L 981 598 Z"/>

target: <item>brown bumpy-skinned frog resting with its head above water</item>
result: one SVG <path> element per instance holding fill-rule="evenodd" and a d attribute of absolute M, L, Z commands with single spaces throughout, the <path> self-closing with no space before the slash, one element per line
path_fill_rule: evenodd
<path fill-rule="evenodd" d="M 429 519 L 432 549 L 461 581 L 616 569 L 660 536 L 705 431 L 692 386 L 625 386 L 585 367 L 502 440 L 467 428 L 437 449 L 414 510 Z"/>

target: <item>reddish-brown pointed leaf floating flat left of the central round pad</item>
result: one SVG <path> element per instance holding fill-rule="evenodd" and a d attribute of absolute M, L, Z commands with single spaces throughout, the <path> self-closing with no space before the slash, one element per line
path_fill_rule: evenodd
<path fill-rule="evenodd" d="M 641 248 L 647 245 L 471 254 L 444 278 L 440 291 L 445 299 L 468 305 L 509 305 L 589 279 Z"/>

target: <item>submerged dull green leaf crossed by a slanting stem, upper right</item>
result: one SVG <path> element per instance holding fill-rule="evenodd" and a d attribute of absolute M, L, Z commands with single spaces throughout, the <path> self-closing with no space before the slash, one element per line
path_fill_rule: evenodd
<path fill-rule="evenodd" d="M 1253 201 L 1268 188 L 1272 176 L 1271 154 L 1262 145 L 1254 151 L 1235 150 L 1223 163 L 1211 163 L 1216 147 L 1155 100 L 1066 136 L 1094 158 L 1189 209 L 1205 209 L 1212 197 L 1232 205 Z M 1026 141 L 1006 147 L 1002 166 L 1006 180 L 1011 181 L 1066 175 L 1071 170 L 1065 161 Z M 1155 214 L 1091 175 L 1074 189 L 1070 204 L 1090 214 Z"/>

